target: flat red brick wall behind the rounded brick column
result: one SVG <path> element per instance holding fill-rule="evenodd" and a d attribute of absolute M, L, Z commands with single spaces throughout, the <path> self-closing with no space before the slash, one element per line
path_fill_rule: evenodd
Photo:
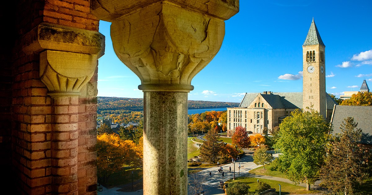
<path fill-rule="evenodd" d="M 97 31 L 99 20 L 89 13 L 89 0 L 13 3 L 14 6 L 4 6 L 1 12 L 3 18 L 9 19 L 5 23 L 9 43 L 5 43 L 7 48 L 1 48 L 0 55 L 5 62 L 0 72 L 0 155 L 5 158 L 0 165 L 2 173 L 12 173 L 14 178 L 9 184 L 15 184 L 19 194 L 47 194 L 52 191 L 54 108 L 48 89 L 39 78 L 39 54 L 22 52 L 21 38 L 41 22 Z M 91 82 L 97 82 L 97 73 Z M 96 194 L 95 95 L 80 97 L 77 108 L 78 192 Z"/>

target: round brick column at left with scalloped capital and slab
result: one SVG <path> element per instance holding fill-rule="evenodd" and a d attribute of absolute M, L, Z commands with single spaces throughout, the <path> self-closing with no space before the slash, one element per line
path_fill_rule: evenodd
<path fill-rule="evenodd" d="M 52 193 L 78 194 L 79 95 L 94 75 L 97 58 L 103 55 L 104 37 L 98 32 L 42 23 L 25 40 L 30 41 L 25 52 L 41 52 L 39 76 L 52 98 Z"/>

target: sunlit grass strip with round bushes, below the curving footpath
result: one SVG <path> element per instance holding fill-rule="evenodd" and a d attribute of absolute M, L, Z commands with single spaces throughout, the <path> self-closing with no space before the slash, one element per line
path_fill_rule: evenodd
<path fill-rule="evenodd" d="M 312 194 L 312 193 L 318 193 L 319 191 L 315 190 L 310 190 L 306 191 L 306 188 L 294 185 L 291 183 L 286 183 L 286 182 L 279 182 L 279 181 L 274 181 L 270 179 L 260 179 L 260 178 L 246 178 L 246 177 L 241 177 L 241 178 L 235 178 L 235 180 L 228 180 L 228 183 L 232 182 L 240 182 L 240 183 L 246 183 L 249 185 L 251 188 L 249 189 L 250 192 L 254 192 L 257 189 L 258 183 L 257 179 L 259 179 L 260 182 L 266 182 L 268 183 L 272 188 L 276 189 L 276 192 L 279 192 L 279 184 L 282 186 L 282 194 Z M 279 193 L 278 193 L 279 194 Z"/>

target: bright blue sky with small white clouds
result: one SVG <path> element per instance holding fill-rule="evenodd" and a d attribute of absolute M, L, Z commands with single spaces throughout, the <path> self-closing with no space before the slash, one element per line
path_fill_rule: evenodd
<path fill-rule="evenodd" d="M 335 3 L 333 3 L 335 2 Z M 336 3 L 337 2 L 337 3 Z M 189 100 L 240 102 L 245 92 L 301 92 L 302 44 L 312 17 L 325 44 L 326 91 L 339 97 L 372 88 L 372 1 L 248 1 L 225 21 L 215 58 L 197 74 Z M 98 95 L 142 98 L 140 79 L 115 55 L 110 23 L 99 59 Z"/>

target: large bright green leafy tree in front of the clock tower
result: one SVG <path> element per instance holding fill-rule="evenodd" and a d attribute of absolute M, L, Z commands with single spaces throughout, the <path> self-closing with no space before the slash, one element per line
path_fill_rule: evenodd
<path fill-rule="evenodd" d="M 282 153 L 278 170 L 295 183 L 306 181 L 306 189 L 310 190 L 324 163 L 329 125 L 317 111 L 295 110 L 279 127 L 279 138 L 274 145 Z"/>

